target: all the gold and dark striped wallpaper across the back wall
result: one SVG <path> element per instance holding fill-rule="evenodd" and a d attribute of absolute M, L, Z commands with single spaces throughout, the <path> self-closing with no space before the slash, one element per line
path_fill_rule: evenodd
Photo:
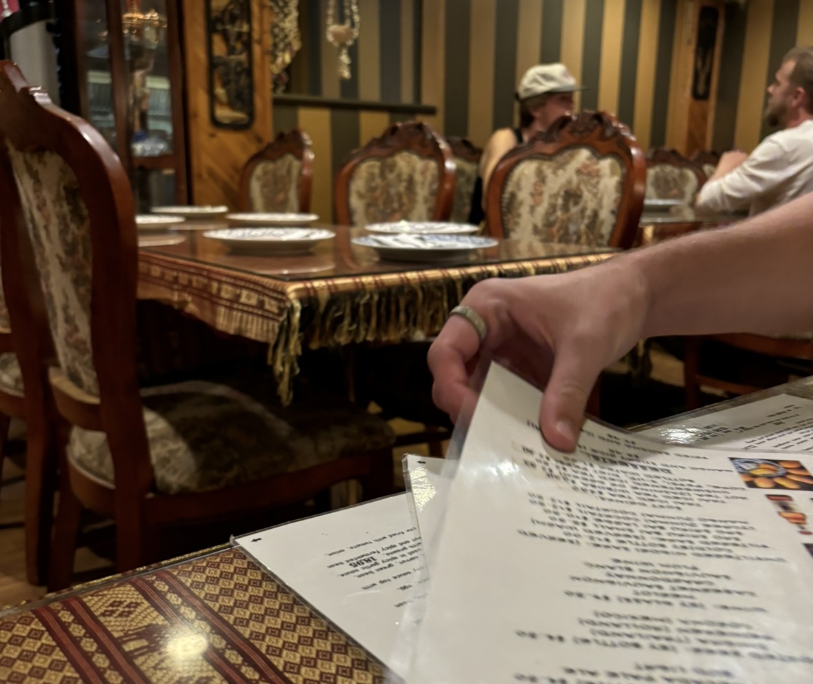
<path fill-rule="evenodd" d="M 341 4 L 341 3 L 337 3 Z M 351 81 L 335 76 L 337 50 L 324 41 L 326 0 L 302 0 L 310 31 L 298 81 L 302 93 L 373 102 L 422 102 L 422 116 L 446 135 L 482 146 L 493 129 L 515 125 L 516 83 L 540 62 L 562 61 L 586 86 L 582 107 L 615 112 L 641 146 L 674 146 L 670 111 L 676 27 L 686 0 L 359 0 L 361 34 Z M 311 20 L 315 17 L 315 20 Z M 813 43 L 813 0 L 749 0 L 724 8 L 713 147 L 752 149 L 764 88 L 786 50 Z M 318 53 L 318 54 L 316 54 Z M 297 59 L 300 59 L 298 57 Z M 296 62 L 296 60 L 295 60 Z M 748 77 L 746 78 L 746 74 Z M 292 79 L 293 81 L 293 79 Z M 341 159 L 392 120 L 409 115 L 276 104 L 274 128 L 311 134 L 312 204 L 333 216 L 333 172 Z"/>

